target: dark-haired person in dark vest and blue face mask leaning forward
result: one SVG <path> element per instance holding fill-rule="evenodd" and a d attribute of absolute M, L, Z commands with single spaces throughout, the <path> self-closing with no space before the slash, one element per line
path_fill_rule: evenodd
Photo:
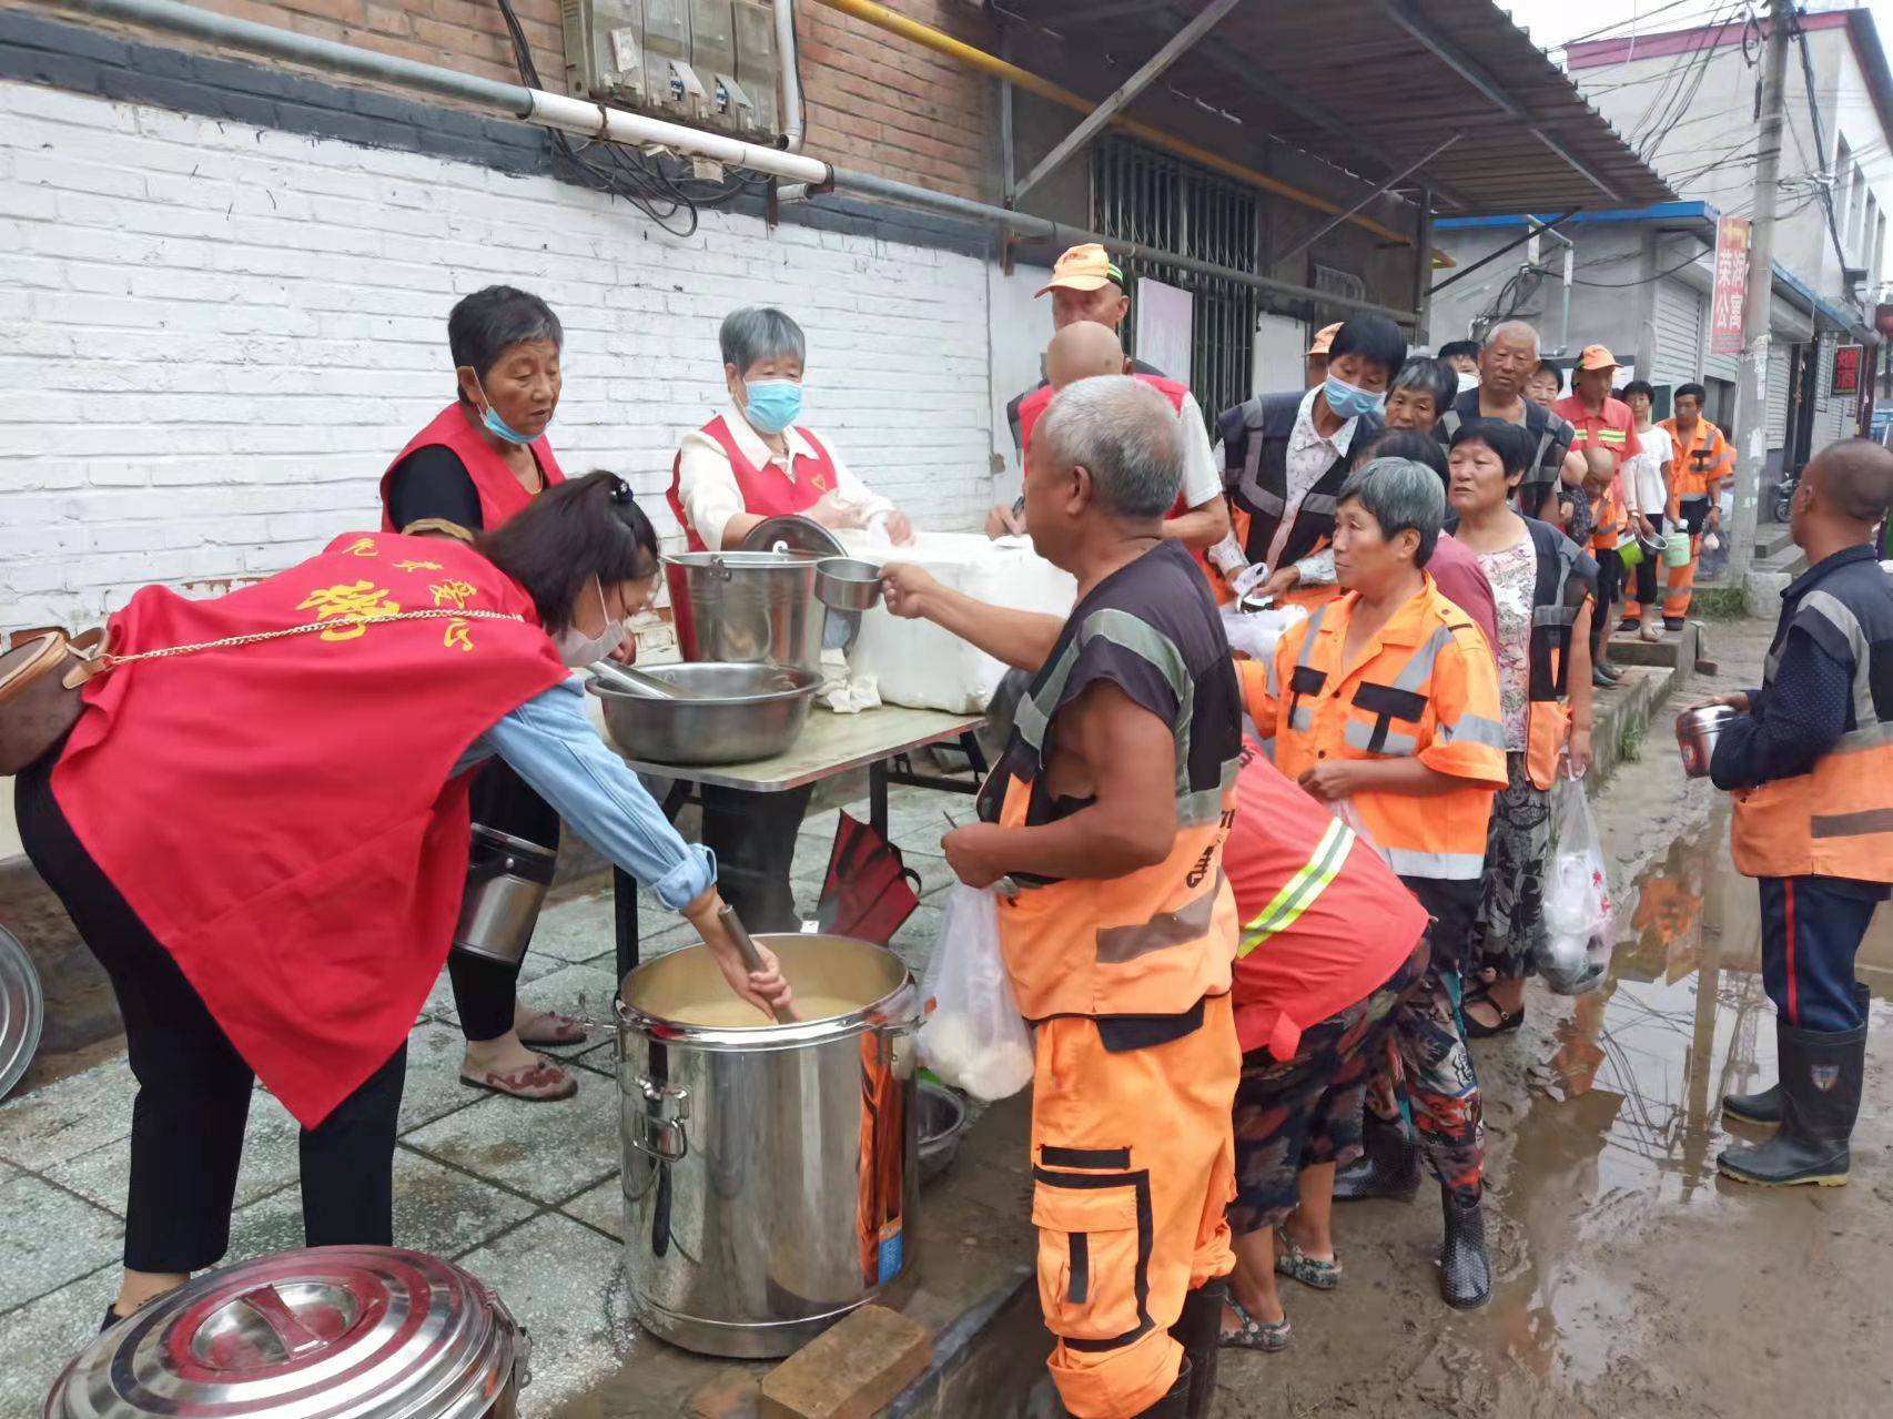
<path fill-rule="evenodd" d="M 1312 390 L 1265 394 L 1217 418 L 1232 547 L 1212 558 L 1247 590 L 1321 604 L 1336 594 L 1335 494 L 1353 467 L 1357 439 L 1380 431 L 1388 386 L 1406 363 L 1406 337 L 1386 316 L 1344 320 L 1327 348 L 1327 377 Z M 1244 571 L 1247 564 L 1247 571 Z"/>

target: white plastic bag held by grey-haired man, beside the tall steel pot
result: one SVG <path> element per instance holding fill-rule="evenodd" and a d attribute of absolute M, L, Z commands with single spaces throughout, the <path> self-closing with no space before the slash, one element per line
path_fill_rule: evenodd
<path fill-rule="evenodd" d="M 992 891 L 964 882 L 948 889 L 920 1008 L 920 1058 L 943 1082 L 977 1099 L 1003 1099 L 1032 1082 L 1032 1031 L 1000 954 Z"/>

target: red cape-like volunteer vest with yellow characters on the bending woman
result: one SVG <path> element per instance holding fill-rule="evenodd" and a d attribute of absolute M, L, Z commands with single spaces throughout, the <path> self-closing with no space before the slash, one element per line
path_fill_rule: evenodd
<path fill-rule="evenodd" d="M 146 587 L 112 649 L 394 609 L 519 621 L 333 630 L 121 666 L 53 768 L 80 842 L 305 1126 L 379 1069 L 447 959 L 468 870 L 460 755 L 566 668 L 526 592 L 441 537 L 348 534 L 206 602 Z"/>

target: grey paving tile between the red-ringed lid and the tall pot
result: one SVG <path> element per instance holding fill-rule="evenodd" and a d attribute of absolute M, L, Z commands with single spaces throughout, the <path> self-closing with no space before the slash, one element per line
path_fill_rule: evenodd
<path fill-rule="evenodd" d="M 545 1213 L 460 1258 L 532 1334 L 532 1413 L 553 1413 L 617 1370 L 634 1343 L 655 1343 L 630 1319 L 621 1254 L 619 1243 Z"/>

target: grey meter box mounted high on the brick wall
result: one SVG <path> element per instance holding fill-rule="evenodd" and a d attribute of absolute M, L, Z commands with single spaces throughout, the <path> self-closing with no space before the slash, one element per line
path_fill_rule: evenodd
<path fill-rule="evenodd" d="M 566 89 L 750 142 L 780 132 L 774 11 L 755 0 L 560 0 Z"/>

